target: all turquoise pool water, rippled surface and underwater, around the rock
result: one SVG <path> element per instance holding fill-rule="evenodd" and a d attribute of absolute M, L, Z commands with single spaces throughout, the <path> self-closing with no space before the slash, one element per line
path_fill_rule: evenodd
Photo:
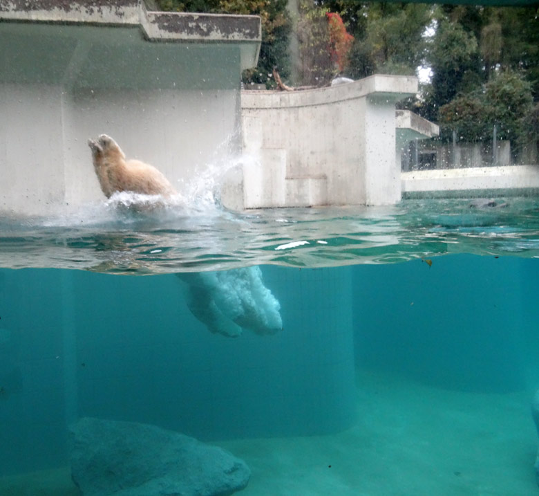
<path fill-rule="evenodd" d="M 507 202 L 2 221 L 0 494 L 77 494 L 83 416 L 223 446 L 248 495 L 535 494 L 539 203 Z"/>

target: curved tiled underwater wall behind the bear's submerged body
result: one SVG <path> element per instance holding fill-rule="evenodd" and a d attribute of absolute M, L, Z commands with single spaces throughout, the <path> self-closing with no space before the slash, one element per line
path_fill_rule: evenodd
<path fill-rule="evenodd" d="M 67 465 L 82 416 L 206 441 L 349 428 L 350 268 L 263 275 L 283 331 L 226 338 L 191 315 L 174 275 L 0 270 L 0 472 Z"/>

